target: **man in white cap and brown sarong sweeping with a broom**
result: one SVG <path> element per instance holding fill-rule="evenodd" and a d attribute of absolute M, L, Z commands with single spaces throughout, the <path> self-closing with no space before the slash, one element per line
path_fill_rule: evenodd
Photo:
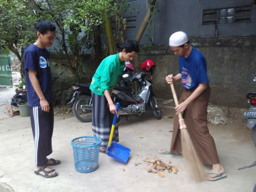
<path fill-rule="evenodd" d="M 211 164 L 212 170 L 207 173 L 206 180 L 215 181 L 226 177 L 224 168 L 219 162 L 213 137 L 207 127 L 207 107 L 211 88 L 207 76 L 206 60 L 202 53 L 189 45 L 186 33 L 173 33 L 169 39 L 170 49 L 179 56 L 179 73 L 168 75 L 166 82 L 182 80 L 183 92 L 179 105 L 175 107 L 176 115 L 173 124 L 171 147 L 160 150 L 161 154 L 181 155 L 179 117 L 183 118 L 187 130 L 202 163 Z"/>

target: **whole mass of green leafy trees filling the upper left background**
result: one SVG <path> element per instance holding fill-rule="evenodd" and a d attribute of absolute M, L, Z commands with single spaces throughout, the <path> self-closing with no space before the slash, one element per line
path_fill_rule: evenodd
<path fill-rule="evenodd" d="M 95 45 L 93 39 L 97 39 L 99 47 L 99 26 L 104 28 L 107 54 L 117 52 L 118 40 L 114 38 L 110 20 L 116 18 L 120 26 L 120 11 L 127 9 L 127 6 L 126 0 L 0 0 L 0 48 L 11 50 L 17 56 L 23 77 L 22 53 L 37 39 L 33 28 L 35 21 L 54 21 L 57 25 L 57 46 L 52 48 L 61 55 L 62 65 L 74 74 L 77 82 L 81 82 L 80 54 Z"/>

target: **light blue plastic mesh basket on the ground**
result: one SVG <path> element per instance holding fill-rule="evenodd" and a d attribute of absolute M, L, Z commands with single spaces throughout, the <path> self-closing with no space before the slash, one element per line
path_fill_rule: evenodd
<path fill-rule="evenodd" d="M 72 139 L 75 170 L 81 173 L 93 172 L 98 168 L 101 139 L 93 136 Z"/>

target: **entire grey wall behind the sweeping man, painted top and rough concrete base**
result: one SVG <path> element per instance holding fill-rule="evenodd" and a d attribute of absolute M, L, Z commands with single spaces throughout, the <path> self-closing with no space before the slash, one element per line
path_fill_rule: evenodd
<path fill-rule="evenodd" d="M 251 22 L 202 25 L 203 10 L 251 5 L 252 0 L 158 0 L 155 16 L 154 46 L 140 52 L 140 62 L 152 59 L 156 62 L 153 89 L 158 98 L 171 97 L 165 76 L 178 72 L 178 58 L 169 50 L 169 37 L 176 31 L 185 31 L 191 45 L 199 49 L 207 59 L 208 76 L 212 87 L 210 102 L 224 106 L 247 107 L 245 96 L 256 91 L 256 5 L 252 6 Z M 131 8 L 139 13 L 136 28 L 126 30 L 126 39 L 134 39 L 146 13 L 146 1 L 130 1 Z M 217 28 L 217 31 L 216 31 Z M 131 32 L 132 31 L 132 32 Z M 144 32 L 148 34 L 147 31 Z M 144 36 L 140 44 L 147 41 Z M 151 31 L 151 38 L 153 32 Z M 158 44 L 158 45 L 156 45 Z M 176 84 L 179 94 L 181 83 Z"/>

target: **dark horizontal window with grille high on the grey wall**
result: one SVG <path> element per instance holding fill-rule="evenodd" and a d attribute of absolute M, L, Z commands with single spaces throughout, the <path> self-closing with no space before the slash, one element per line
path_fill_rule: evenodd
<path fill-rule="evenodd" d="M 252 5 L 203 10 L 203 25 L 251 22 Z"/>

